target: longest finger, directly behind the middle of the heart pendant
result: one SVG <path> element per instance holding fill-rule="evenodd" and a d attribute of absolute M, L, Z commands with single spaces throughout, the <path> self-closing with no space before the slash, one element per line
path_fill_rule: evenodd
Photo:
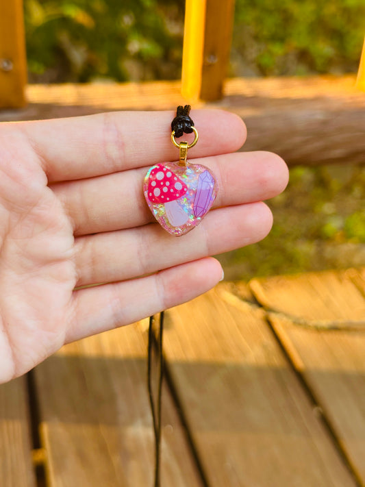
<path fill-rule="evenodd" d="M 288 168 L 270 152 L 234 153 L 197 159 L 218 182 L 214 207 L 269 199 L 284 190 Z M 144 200 L 147 168 L 52 186 L 73 222 L 75 235 L 133 228 L 154 221 Z"/>

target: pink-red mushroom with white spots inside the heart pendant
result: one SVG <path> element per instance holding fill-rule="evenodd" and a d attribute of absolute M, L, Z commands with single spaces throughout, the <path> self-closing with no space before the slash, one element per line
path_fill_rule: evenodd
<path fill-rule="evenodd" d="M 184 225 L 189 215 L 177 202 L 188 190 L 188 186 L 171 169 L 157 164 L 149 175 L 147 195 L 151 203 L 163 204 L 168 221 L 174 227 Z"/>

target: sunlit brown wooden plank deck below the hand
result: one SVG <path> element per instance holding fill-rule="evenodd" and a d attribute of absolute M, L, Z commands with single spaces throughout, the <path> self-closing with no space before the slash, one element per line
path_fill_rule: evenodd
<path fill-rule="evenodd" d="M 223 283 L 168 310 L 162 486 L 365 486 L 364 317 L 365 269 Z M 1 486 L 152 485 L 147 327 L 0 387 Z"/>

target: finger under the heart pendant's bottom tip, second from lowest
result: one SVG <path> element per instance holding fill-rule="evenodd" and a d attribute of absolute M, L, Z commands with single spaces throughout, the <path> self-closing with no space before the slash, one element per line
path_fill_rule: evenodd
<path fill-rule="evenodd" d="M 238 249 L 262 240 L 272 223 L 264 203 L 251 203 L 214 210 L 199 227 L 179 238 L 157 223 L 80 237 L 75 241 L 77 286 L 131 279 Z"/>

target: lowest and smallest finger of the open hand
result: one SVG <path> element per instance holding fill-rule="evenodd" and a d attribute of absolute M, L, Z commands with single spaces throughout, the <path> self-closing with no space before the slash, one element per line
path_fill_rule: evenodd
<path fill-rule="evenodd" d="M 66 342 L 185 303 L 214 287 L 221 277 L 221 264 L 206 258 L 132 281 L 77 290 Z"/>

